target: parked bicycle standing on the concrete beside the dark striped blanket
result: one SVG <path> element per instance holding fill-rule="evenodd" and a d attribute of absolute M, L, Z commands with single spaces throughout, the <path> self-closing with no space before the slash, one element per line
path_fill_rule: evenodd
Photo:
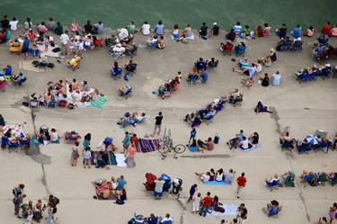
<path fill-rule="evenodd" d="M 182 144 L 173 146 L 173 139 L 171 138 L 171 130 L 168 130 L 166 135 L 166 129 L 164 130 L 164 136 L 162 139 L 159 139 L 158 151 L 162 154 L 162 159 L 164 159 L 167 153 L 173 151 L 173 158 L 178 158 L 177 154 L 183 153 L 186 150 L 186 147 Z"/>

